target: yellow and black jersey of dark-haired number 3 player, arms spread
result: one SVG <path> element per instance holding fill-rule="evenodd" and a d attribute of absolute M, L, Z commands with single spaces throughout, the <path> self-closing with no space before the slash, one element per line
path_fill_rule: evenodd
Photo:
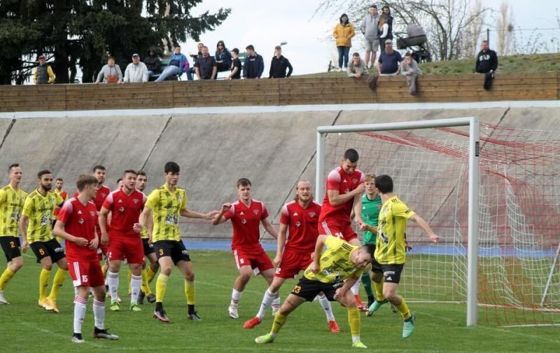
<path fill-rule="evenodd" d="M 144 207 L 148 207 L 153 213 L 152 242 L 181 240 L 179 216 L 181 209 L 187 208 L 185 189 L 175 188 L 172 193 L 165 185 L 157 188 L 148 196 Z"/>

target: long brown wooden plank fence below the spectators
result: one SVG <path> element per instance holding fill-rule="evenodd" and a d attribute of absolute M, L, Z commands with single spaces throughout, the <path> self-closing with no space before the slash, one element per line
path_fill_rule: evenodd
<path fill-rule="evenodd" d="M 0 86 L 0 111 L 148 109 L 188 106 L 482 102 L 560 99 L 560 73 L 496 74 L 491 90 L 479 74 L 421 76 L 419 94 L 405 78 L 381 77 L 370 90 L 365 78 L 281 78 L 238 81 Z"/>

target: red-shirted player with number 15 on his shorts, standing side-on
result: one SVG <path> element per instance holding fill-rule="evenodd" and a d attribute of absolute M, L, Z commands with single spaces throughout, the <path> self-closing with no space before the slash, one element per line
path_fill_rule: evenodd
<path fill-rule="evenodd" d="M 85 317 L 90 287 L 93 289 L 94 338 L 117 340 L 118 336 L 105 328 L 105 286 L 104 277 L 97 259 L 99 237 L 97 208 L 91 202 L 97 192 L 98 181 L 90 175 L 80 175 L 76 181 L 78 197 L 64 202 L 53 233 L 66 240 L 66 257 L 73 285 L 78 289 L 74 300 L 72 342 L 85 342 L 82 324 Z"/>

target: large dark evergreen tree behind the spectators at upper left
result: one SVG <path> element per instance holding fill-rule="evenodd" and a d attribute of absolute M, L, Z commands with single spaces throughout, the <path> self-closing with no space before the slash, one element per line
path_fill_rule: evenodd
<path fill-rule="evenodd" d="M 57 83 L 92 82 L 106 57 L 130 62 L 132 53 L 161 51 L 220 25 L 229 8 L 195 17 L 190 10 L 202 0 L 2 0 L 0 40 L 10 50 L 0 53 L 0 83 L 21 83 L 36 56 L 54 57 Z"/>

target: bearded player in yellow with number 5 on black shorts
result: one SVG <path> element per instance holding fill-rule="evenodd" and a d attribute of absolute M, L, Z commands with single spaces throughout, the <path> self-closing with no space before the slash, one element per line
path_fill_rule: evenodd
<path fill-rule="evenodd" d="M 27 238 L 29 246 L 41 263 L 43 270 L 39 275 L 39 306 L 45 310 L 59 312 L 57 308 L 58 291 L 66 274 L 68 263 L 60 243 L 52 235 L 52 213 L 56 207 L 62 206 L 64 200 L 57 193 L 50 193 L 52 188 L 52 173 L 48 170 L 38 172 L 38 188 L 29 194 L 20 218 L 20 233 Z M 27 224 L 29 221 L 29 225 Z M 47 287 L 50 278 L 52 263 L 57 263 L 58 270 L 52 282 L 50 294 L 47 296 Z"/>

